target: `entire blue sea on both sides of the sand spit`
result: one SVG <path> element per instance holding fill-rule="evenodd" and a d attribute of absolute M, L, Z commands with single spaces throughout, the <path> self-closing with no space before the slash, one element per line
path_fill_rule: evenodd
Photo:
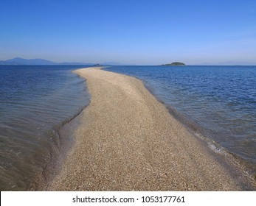
<path fill-rule="evenodd" d="M 85 66 L 0 65 L 0 190 L 29 190 L 90 102 Z M 256 66 L 108 66 L 141 79 L 170 114 L 256 171 Z M 70 141 L 70 140 L 69 140 Z"/>

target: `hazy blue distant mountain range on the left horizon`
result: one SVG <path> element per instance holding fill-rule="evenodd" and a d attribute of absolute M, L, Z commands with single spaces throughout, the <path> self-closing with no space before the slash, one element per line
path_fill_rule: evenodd
<path fill-rule="evenodd" d="M 107 62 L 107 63 L 55 63 L 49 60 L 43 59 L 23 59 L 16 57 L 10 60 L 0 60 L 0 65 L 120 65 L 120 63 Z"/>

